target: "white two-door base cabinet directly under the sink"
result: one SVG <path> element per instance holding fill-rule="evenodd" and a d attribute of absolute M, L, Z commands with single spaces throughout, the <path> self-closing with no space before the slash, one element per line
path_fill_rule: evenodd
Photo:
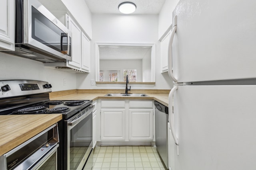
<path fill-rule="evenodd" d="M 153 141 L 152 100 L 101 100 L 101 141 Z"/>

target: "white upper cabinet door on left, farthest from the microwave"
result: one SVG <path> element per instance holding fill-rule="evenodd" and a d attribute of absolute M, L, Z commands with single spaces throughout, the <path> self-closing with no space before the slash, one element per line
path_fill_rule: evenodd
<path fill-rule="evenodd" d="M 82 32 L 82 69 L 90 72 L 90 40 Z"/>

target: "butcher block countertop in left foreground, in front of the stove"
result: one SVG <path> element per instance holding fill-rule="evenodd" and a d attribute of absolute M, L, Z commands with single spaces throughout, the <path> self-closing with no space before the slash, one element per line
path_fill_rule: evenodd
<path fill-rule="evenodd" d="M 0 156 L 61 119 L 61 114 L 0 115 Z"/>

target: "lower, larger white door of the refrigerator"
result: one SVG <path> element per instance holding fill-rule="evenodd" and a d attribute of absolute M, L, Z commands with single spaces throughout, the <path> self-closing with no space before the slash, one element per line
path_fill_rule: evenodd
<path fill-rule="evenodd" d="M 179 86 L 175 170 L 255 170 L 256 86 Z"/>

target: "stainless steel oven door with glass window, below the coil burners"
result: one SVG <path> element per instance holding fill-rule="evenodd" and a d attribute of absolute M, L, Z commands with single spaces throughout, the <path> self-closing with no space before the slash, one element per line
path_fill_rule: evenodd
<path fill-rule="evenodd" d="M 68 119 L 67 123 L 67 169 L 82 169 L 92 150 L 91 105 Z"/>

